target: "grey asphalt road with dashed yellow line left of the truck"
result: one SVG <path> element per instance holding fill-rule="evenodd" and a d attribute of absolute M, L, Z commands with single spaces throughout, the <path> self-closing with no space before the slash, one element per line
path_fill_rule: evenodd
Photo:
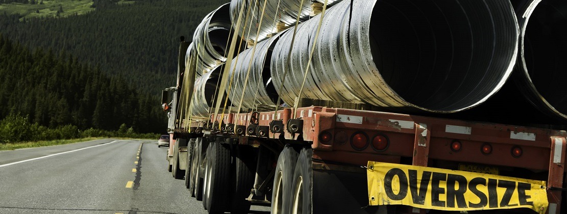
<path fill-rule="evenodd" d="M 166 149 L 104 139 L 0 151 L 0 213 L 206 213 L 167 172 Z"/>

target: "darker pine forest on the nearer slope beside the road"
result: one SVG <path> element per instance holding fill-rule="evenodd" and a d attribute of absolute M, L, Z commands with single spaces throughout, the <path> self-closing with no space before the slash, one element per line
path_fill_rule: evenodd
<path fill-rule="evenodd" d="M 163 132 L 166 119 L 151 96 L 108 78 L 71 54 L 33 51 L 0 34 L 0 118 L 27 115 L 47 127 Z"/>

